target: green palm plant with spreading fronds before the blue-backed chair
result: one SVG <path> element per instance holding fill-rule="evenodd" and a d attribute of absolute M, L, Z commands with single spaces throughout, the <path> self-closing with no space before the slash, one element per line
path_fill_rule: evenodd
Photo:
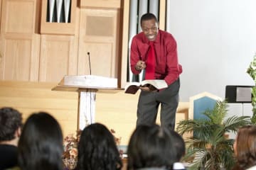
<path fill-rule="evenodd" d="M 218 170 L 231 169 L 235 164 L 233 157 L 233 139 L 228 139 L 227 132 L 236 132 L 240 126 L 251 124 L 250 116 L 227 115 L 226 101 L 218 101 L 213 110 L 203 113 L 205 119 L 181 120 L 177 131 L 183 135 L 193 132 L 186 139 L 187 152 L 184 161 L 193 159 L 190 169 Z"/>

